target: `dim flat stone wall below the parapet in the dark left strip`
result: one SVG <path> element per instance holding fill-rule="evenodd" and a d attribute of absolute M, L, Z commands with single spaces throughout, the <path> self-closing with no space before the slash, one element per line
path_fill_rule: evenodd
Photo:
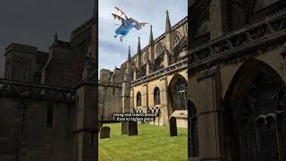
<path fill-rule="evenodd" d="M 48 108 L 53 109 L 51 127 Z M 21 160 L 71 160 L 73 110 L 64 102 L 1 95 L 0 160 L 14 160 L 17 150 Z"/>

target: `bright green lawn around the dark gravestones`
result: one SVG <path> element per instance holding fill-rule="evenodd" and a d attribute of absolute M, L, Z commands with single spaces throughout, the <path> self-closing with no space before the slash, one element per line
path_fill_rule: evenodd
<path fill-rule="evenodd" d="M 186 161 L 188 130 L 178 128 L 178 136 L 170 137 L 167 126 L 138 124 L 138 136 L 121 134 L 121 123 L 104 124 L 111 128 L 111 138 L 98 140 L 100 161 L 172 160 Z"/>

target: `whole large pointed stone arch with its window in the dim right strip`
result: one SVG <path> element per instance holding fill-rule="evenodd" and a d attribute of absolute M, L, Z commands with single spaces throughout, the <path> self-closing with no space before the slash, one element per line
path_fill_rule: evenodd
<path fill-rule="evenodd" d="M 269 65 L 251 58 L 240 66 L 223 99 L 227 160 L 279 160 L 286 155 L 280 148 L 286 132 L 276 130 L 277 107 L 286 103 L 284 89 L 282 77 Z"/>

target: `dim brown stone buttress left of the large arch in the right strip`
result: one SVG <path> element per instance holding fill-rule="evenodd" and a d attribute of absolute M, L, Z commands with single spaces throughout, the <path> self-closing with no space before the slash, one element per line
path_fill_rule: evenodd
<path fill-rule="evenodd" d="M 198 74 L 198 142 L 201 160 L 223 160 L 221 80 L 219 67 Z"/>

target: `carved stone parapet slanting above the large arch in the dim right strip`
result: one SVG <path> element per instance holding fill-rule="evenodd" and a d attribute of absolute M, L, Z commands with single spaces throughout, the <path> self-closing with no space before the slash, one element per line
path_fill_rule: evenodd
<path fill-rule="evenodd" d="M 189 71 L 199 71 L 231 57 L 255 51 L 273 43 L 286 42 L 286 10 L 255 21 L 228 35 L 216 38 L 189 51 Z M 278 41 L 277 41 L 278 40 Z"/>

